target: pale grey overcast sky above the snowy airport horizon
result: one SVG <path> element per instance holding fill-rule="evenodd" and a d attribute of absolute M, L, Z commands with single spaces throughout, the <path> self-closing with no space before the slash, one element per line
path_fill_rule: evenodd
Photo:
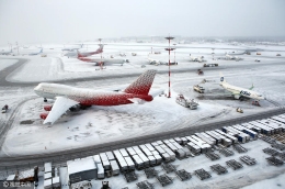
<path fill-rule="evenodd" d="M 285 1 L 0 0 L 0 44 L 169 33 L 285 36 Z"/>

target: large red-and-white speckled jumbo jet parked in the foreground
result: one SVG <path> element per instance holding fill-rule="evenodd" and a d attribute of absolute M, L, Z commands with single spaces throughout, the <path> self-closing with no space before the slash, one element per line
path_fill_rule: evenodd
<path fill-rule="evenodd" d="M 46 113 L 41 113 L 44 124 L 54 124 L 67 110 L 76 105 L 121 105 L 128 103 L 145 103 L 153 100 L 153 97 L 162 90 L 149 94 L 153 82 L 156 70 L 147 70 L 141 74 L 124 91 L 99 91 L 94 89 L 82 89 L 58 84 L 41 82 L 34 88 L 39 97 L 56 99 L 53 105 L 45 105 Z"/>

